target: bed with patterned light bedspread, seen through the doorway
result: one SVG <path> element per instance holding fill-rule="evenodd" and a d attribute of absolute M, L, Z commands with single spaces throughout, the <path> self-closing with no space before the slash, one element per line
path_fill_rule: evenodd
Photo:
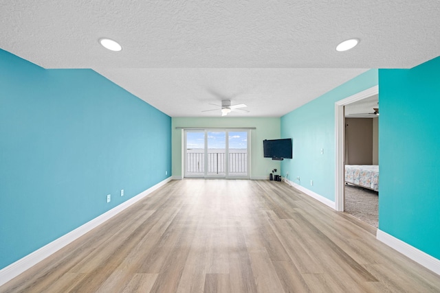
<path fill-rule="evenodd" d="M 379 191 L 379 165 L 345 165 L 345 183 Z"/>

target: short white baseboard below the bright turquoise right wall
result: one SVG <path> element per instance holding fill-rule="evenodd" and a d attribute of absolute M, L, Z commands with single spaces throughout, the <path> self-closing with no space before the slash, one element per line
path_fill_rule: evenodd
<path fill-rule="evenodd" d="M 403 242 L 400 239 L 397 239 L 396 237 L 379 229 L 377 229 L 376 238 L 380 242 L 384 242 L 384 244 L 399 251 L 399 253 L 406 255 L 406 257 L 409 257 L 413 261 L 420 263 L 425 268 L 432 270 L 432 272 L 440 274 L 439 259 L 436 259 L 427 253 L 423 253 L 423 251 L 415 248 L 414 246 L 410 246 L 410 244 L 407 244 L 406 242 Z"/>

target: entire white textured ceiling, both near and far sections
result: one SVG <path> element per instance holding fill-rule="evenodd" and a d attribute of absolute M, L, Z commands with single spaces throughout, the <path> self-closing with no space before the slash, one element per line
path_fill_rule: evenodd
<path fill-rule="evenodd" d="M 0 0 L 0 27 L 1 49 L 94 69 L 172 117 L 219 116 L 201 110 L 221 99 L 279 117 L 366 69 L 437 57 L 440 1 Z"/>

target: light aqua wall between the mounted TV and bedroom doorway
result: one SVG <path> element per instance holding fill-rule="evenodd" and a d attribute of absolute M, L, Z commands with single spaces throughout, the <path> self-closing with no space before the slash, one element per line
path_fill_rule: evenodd
<path fill-rule="evenodd" d="M 371 69 L 281 117 L 281 137 L 293 139 L 294 153 L 281 163 L 282 176 L 288 172 L 292 182 L 334 201 L 335 102 L 376 85 L 377 70 Z"/>

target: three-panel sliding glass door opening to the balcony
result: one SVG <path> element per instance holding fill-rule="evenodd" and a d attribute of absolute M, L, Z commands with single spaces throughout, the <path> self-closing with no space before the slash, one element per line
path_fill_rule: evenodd
<path fill-rule="evenodd" d="M 185 130 L 184 176 L 249 178 L 249 130 Z"/>

